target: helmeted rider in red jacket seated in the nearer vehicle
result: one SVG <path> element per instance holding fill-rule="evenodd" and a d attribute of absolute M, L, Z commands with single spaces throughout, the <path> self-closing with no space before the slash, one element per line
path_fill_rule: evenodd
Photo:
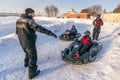
<path fill-rule="evenodd" d="M 79 58 L 80 55 L 84 54 L 92 46 L 92 41 L 90 37 L 90 31 L 84 32 L 84 36 L 79 41 L 82 45 L 78 54 L 75 54 L 75 58 Z"/>

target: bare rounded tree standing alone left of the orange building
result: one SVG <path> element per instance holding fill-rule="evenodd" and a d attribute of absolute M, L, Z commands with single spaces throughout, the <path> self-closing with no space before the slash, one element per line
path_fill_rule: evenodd
<path fill-rule="evenodd" d="M 45 12 L 48 17 L 56 17 L 59 10 L 56 6 L 50 5 L 50 6 L 45 7 Z"/>

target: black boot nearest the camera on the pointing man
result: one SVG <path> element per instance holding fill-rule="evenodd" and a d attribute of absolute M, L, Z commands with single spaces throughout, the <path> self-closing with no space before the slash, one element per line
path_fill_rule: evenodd
<path fill-rule="evenodd" d="M 28 72 L 29 79 L 36 77 L 40 73 L 40 70 L 37 70 L 37 66 L 36 67 L 29 67 L 28 71 L 29 71 Z"/>

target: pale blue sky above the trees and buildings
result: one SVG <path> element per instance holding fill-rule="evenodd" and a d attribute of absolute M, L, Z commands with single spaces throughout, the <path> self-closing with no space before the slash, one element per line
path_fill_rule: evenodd
<path fill-rule="evenodd" d="M 74 8 L 77 12 L 92 5 L 102 5 L 103 9 L 113 11 L 120 4 L 120 0 L 1 0 L 0 12 L 24 12 L 27 7 L 35 9 L 36 13 L 44 13 L 48 5 L 58 7 L 60 13 Z"/>

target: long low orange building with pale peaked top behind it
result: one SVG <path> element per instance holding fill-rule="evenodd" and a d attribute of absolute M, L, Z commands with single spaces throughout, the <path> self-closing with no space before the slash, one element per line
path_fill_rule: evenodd
<path fill-rule="evenodd" d="M 90 19 L 90 14 L 88 13 L 77 13 L 74 9 L 70 9 L 68 13 L 64 14 L 64 18 L 85 18 Z"/>

